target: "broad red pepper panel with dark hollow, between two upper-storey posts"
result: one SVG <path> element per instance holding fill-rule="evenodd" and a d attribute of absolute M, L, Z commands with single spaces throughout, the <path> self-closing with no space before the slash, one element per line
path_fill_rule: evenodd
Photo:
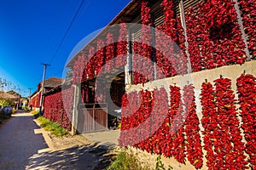
<path fill-rule="evenodd" d="M 185 17 L 193 71 L 245 62 L 245 44 L 231 1 L 203 1 L 189 8 Z"/>

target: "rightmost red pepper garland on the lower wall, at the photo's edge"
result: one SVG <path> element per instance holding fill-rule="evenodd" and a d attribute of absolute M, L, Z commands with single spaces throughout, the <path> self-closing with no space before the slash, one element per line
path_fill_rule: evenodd
<path fill-rule="evenodd" d="M 246 143 L 246 152 L 249 156 L 250 167 L 256 169 L 256 77 L 244 75 L 236 82 L 241 110 L 242 125 Z"/>

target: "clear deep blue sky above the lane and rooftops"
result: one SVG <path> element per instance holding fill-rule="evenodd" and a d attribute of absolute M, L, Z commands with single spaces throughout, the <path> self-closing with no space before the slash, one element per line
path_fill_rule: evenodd
<path fill-rule="evenodd" d="M 61 77 L 73 48 L 91 32 L 107 26 L 130 0 L 84 0 L 61 48 L 56 48 L 67 31 L 82 0 L 0 0 L 0 77 L 36 90 L 46 77 Z M 54 56 L 55 54 L 55 56 Z M 53 58 L 54 56 L 54 58 Z"/>

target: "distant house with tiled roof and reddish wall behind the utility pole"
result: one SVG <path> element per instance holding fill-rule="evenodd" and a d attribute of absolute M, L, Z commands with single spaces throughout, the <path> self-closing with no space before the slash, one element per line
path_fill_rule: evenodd
<path fill-rule="evenodd" d="M 50 77 L 44 81 L 44 93 L 48 93 L 51 89 L 61 85 L 62 79 L 56 77 Z M 38 83 L 38 89 L 31 95 L 29 106 L 34 109 L 38 109 L 40 105 L 40 98 L 42 94 L 42 82 Z"/>

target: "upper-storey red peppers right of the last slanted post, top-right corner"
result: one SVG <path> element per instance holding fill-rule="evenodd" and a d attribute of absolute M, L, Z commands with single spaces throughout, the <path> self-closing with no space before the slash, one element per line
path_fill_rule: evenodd
<path fill-rule="evenodd" d="M 248 49 L 252 59 L 256 59 L 256 3 L 255 0 L 239 1 L 241 18 L 244 30 L 247 34 Z"/>

